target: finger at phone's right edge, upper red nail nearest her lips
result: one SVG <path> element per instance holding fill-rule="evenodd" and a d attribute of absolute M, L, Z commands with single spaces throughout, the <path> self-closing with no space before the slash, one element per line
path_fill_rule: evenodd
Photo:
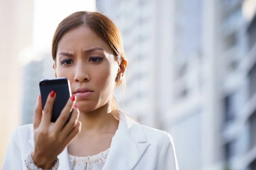
<path fill-rule="evenodd" d="M 62 109 L 60 116 L 55 122 L 56 130 L 58 129 L 58 131 L 60 131 L 63 128 L 63 126 L 67 122 L 67 119 L 70 116 L 70 113 L 73 109 L 73 106 L 75 105 L 75 102 L 76 102 L 76 96 L 70 97 L 70 99 L 67 101 L 67 104 Z"/>

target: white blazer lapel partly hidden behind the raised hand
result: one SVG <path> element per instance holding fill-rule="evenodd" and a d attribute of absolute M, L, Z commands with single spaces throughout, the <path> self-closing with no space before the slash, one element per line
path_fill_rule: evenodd
<path fill-rule="evenodd" d="M 33 140 L 29 140 L 30 145 L 33 147 L 35 147 L 34 141 Z M 68 155 L 67 155 L 67 147 L 58 155 L 58 159 L 59 159 L 59 170 L 70 170 L 70 164 L 69 164 L 69 160 L 68 160 Z"/>

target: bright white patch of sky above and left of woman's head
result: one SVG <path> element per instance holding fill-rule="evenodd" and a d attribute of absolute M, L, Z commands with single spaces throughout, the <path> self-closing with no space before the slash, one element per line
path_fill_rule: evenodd
<path fill-rule="evenodd" d="M 50 48 L 58 23 L 76 11 L 95 11 L 96 0 L 34 0 L 33 51 Z"/>

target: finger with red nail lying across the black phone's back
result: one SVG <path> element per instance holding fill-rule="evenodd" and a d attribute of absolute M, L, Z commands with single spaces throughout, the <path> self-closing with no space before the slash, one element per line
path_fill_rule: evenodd
<path fill-rule="evenodd" d="M 52 118 L 52 108 L 56 98 L 55 91 L 51 91 L 47 97 L 46 103 L 44 105 L 44 114 L 42 117 L 42 124 L 49 125 Z"/>

